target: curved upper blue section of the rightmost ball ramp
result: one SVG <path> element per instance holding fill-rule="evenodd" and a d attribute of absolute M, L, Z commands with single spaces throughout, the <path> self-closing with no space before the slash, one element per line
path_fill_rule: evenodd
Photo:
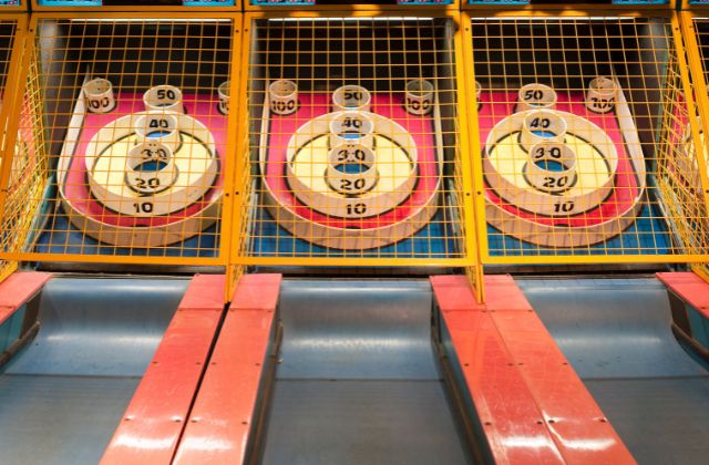
<path fill-rule="evenodd" d="M 675 339 L 667 290 L 656 279 L 517 283 L 584 379 L 707 374 Z"/>

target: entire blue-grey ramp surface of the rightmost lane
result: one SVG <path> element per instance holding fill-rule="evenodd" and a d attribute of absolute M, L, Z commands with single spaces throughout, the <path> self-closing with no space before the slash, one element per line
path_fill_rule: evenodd
<path fill-rule="evenodd" d="M 639 463 L 706 463 L 709 373 L 672 335 L 664 285 L 517 283 Z"/>

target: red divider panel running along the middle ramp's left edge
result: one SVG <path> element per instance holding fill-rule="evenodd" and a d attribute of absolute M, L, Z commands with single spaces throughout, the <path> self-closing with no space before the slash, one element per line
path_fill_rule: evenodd
<path fill-rule="evenodd" d="M 179 442 L 176 464 L 244 462 L 279 288 L 279 275 L 242 278 Z"/>

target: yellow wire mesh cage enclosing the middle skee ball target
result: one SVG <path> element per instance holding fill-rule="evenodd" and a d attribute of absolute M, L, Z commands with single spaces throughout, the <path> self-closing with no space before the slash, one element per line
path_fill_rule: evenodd
<path fill-rule="evenodd" d="M 250 18 L 236 259 L 470 264 L 453 21 Z"/>

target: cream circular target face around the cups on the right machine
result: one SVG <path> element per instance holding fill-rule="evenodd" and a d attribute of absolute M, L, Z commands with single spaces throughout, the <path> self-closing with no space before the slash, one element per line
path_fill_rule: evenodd
<path fill-rule="evenodd" d="M 546 111 L 545 111 L 546 112 Z M 582 214 L 597 207 L 613 190 L 618 154 L 613 141 L 598 126 L 580 116 L 554 111 L 564 126 L 573 128 L 563 141 L 536 144 L 564 144 L 575 154 L 576 182 L 563 196 L 531 185 L 525 176 L 530 155 L 520 144 L 523 121 L 538 111 L 517 113 L 502 120 L 487 135 L 483 157 L 485 179 L 505 202 L 518 208 L 549 217 Z M 537 145 L 531 148 L 537 148 Z"/>

